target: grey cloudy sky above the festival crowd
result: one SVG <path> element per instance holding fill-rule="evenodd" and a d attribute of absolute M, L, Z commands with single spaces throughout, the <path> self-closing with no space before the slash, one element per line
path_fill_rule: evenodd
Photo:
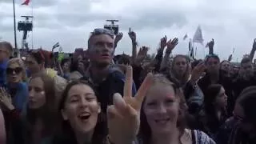
<path fill-rule="evenodd" d="M 187 54 L 187 33 L 193 38 L 198 25 L 202 26 L 206 42 L 215 40 L 214 53 L 227 58 L 235 47 L 234 61 L 250 53 L 256 38 L 256 1 L 254 0 L 32 0 L 30 6 L 16 1 L 17 21 L 21 15 L 34 15 L 34 32 L 28 42 L 34 48 L 50 50 L 60 42 L 63 50 L 86 48 L 90 31 L 106 24 L 106 19 L 118 19 L 124 34 L 117 53 L 131 53 L 127 34 L 129 27 L 138 35 L 140 46 L 150 46 L 156 52 L 160 38 L 180 39 L 174 54 Z M 32 10 L 33 7 L 33 10 Z M 13 9 L 11 0 L 0 0 L 0 38 L 14 44 Z M 18 46 L 22 33 L 18 32 Z M 198 47 L 197 56 L 207 53 Z"/>

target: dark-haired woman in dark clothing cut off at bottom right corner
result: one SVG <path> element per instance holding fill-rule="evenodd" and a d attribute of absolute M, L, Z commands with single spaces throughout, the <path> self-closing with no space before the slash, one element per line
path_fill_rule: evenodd
<path fill-rule="evenodd" d="M 256 143 L 256 86 L 242 90 L 235 106 L 234 116 L 229 118 L 217 134 L 218 144 Z"/>

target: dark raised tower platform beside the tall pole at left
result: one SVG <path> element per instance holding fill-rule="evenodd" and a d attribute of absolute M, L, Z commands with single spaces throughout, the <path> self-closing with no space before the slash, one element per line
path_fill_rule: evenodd
<path fill-rule="evenodd" d="M 28 32 L 33 30 L 33 22 L 32 20 L 30 20 L 30 18 L 33 18 L 33 16 L 22 16 L 22 18 L 25 18 L 25 21 L 18 22 L 18 30 L 23 31 L 22 50 L 24 49 L 29 50 L 29 46 L 28 46 L 28 43 L 26 42 L 26 38 L 27 38 Z"/>

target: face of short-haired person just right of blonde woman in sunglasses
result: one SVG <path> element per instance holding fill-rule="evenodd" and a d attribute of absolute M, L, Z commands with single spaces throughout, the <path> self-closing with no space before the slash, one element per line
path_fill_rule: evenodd
<path fill-rule="evenodd" d="M 32 56 L 28 56 L 26 57 L 26 67 L 28 70 L 30 70 L 31 74 L 36 74 L 40 71 L 41 67 L 38 62 L 36 62 L 36 60 L 32 57 Z"/>

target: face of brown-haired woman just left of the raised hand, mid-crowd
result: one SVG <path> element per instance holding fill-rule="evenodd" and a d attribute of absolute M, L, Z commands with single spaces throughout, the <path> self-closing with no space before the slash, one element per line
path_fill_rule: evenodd
<path fill-rule="evenodd" d="M 183 75 L 186 73 L 186 58 L 177 57 L 174 61 L 174 70 L 176 74 Z"/>

